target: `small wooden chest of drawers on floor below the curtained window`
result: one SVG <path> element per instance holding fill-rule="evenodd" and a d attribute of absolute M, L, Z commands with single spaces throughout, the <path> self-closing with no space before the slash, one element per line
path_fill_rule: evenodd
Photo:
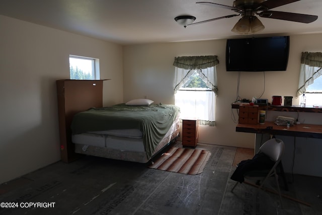
<path fill-rule="evenodd" d="M 197 119 L 182 119 L 182 146 L 196 147 L 198 144 Z"/>

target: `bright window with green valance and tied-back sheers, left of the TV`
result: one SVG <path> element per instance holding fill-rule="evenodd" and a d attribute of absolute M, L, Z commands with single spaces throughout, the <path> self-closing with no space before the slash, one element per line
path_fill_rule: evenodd
<path fill-rule="evenodd" d="M 175 57 L 175 104 L 182 118 L 197 118 L 214 126 L 217 95 L 216 55 Z"/>

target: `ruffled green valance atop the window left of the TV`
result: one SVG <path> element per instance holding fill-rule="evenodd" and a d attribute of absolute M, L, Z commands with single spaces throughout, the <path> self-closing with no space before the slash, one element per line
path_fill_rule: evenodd
<path fill-rule="evenodd" d="M 184 69 L 204 69 L 219 64 L 216 55 L 175 57 L 174 66 Z"/>

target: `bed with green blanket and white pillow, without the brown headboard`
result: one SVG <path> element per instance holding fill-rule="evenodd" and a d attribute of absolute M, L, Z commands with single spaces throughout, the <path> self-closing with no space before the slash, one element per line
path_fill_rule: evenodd
<path fill-rule="evenodd" d="M 132 101 L 76 113 L 71 122 L 75 152 L 147 163 L 176 139 L 179 107 L 145 102 L 131 105 Z"/>

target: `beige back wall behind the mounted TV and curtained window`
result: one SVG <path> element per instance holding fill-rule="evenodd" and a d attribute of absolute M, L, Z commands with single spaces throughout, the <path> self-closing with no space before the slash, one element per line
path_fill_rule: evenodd
<path fill-rule="evenodd" d="M 273 95 L 293 96 L 298 85 L 300 56 L 302 51 L 321 51 L 321 34 L 296 35 L 290 37 L 290 55 L 286 71 L 265 73 L 243 72 L 240 74 L 239 96 L 251 99 L 253 96 L 269 99 Z M 236 99 L 238 73 L 225 69 L 226 40 L 198 42 L 155 43 L 128 45 L 124 47 L 124 100 L 147 98 L 162 103 L 174 104 L 173 61 L 176 56 L 217 55 L 218 96 L 216 104 L 216 126 L 201 126 L 199 141 L 207 144 L 254 148 L 254 136 L 235 132 L 238 118 L 230 104 Z M 265 89 L 264 89 L 265 81 Z"/>

